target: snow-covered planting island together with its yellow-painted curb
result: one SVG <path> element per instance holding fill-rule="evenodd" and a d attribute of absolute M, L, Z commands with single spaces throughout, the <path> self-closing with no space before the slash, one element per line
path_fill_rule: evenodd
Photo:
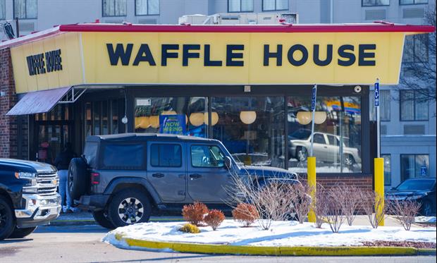
<path fill-rule="evenodd" d="M 258 226 L 242 228 L 232 220 L 212 231 L 202 227 L 201 233 L 182 233 L 181 222 L 143 223 L 117 228 L 102 239 L 106 243 L 127 249 L 165 250 L 251 255 L 415 255 L 412 247 L 363 247 L 364 241 L 421 241 L 436 243 L 436 228 L 401 227 L 373 229 L 370 226 L 342 226 L 332 233 L 328 225 L 295 221 L 274 221 L 271 229 Z M 356 254 L 358 253 L 358 254 Z"/>

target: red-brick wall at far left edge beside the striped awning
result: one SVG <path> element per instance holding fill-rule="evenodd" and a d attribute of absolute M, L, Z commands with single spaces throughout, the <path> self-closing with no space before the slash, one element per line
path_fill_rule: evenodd
<path fill-rule="evenodd" d="M 0 92 L 3 94 L 0 97 L 0 157 L 28 159 L 27 116 L 6 116 L 17 102 L 10 49 L 0 50 Z"/>

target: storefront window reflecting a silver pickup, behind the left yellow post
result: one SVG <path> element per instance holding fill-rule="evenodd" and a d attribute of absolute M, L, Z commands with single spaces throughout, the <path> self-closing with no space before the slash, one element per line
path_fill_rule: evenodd
<path fill-rule="evenodd" d="M 308 97 L 288 97 L 289 169 L 307 170 L 312 112 Z M 362 171 L 360 97 L 319 97 L 316 102 L 313 155 L 320 173 Z"/>

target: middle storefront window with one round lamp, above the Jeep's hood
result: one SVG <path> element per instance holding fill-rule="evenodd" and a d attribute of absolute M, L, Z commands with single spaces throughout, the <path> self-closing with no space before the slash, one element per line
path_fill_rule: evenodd
<path fill-rule="evenodd" d="M 284 97 L 214 97 L 214 139 L 244 164 L 284 167 Z"/>

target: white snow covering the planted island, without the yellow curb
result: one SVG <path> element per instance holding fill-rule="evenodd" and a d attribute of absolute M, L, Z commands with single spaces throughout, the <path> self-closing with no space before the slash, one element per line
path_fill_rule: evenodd
<path fill-rule="evenodd" d="M 364 241 L 423 241 L 436 243 L 436 228 L 414 228 L 405 231 L 398 226 L 347 226 L 343 224 L 340 233 L 332 233 L 328 224 L 321 229 L 314 224 L 299 224 L 297 221 L 273 221 L 269 230 L 262 230 L 254 224 L 250 228 L 242 228 L 233 220 L 225 220 L 216 231 L 211 227 L 200 227 L 197 234 L 183 233 L 178 229 L 185 222 L 142 223 L 117 228 L 102 239 L 106 243 L 125 247 L 115 238 L 121 233 L 125 238 L 140 240 L 227 244 L 257 246 L 355 246 Z M 122 242 L 123 243 L 123 242 Z"/>

